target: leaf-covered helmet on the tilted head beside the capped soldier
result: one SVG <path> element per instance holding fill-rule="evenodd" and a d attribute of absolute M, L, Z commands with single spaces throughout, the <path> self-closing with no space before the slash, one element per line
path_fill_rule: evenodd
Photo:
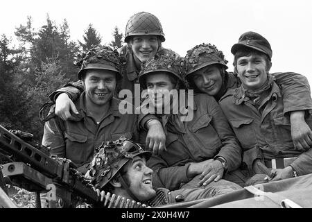
<path fill-rule="evenodd" d="M 184 59 L 187 71 L 186 78 L 189 78 L 194 71 L 212 64 L 220 64 L 225 69 L 228 68 L 223 52 L 211 44 L 202 43 L 193 47 L 193 49 L 187 51 L 187 56 Z"/>

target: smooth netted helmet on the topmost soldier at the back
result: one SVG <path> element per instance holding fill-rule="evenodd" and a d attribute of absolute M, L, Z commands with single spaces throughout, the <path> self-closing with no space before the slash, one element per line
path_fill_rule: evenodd
<path fill-rule="evenodd" d="M 130 17 L 125 26 L 125 42 L 133 35 L 157 35 L 162 42 L 165 40 L 159 19 L 148 12 L 138 12 Z"/>

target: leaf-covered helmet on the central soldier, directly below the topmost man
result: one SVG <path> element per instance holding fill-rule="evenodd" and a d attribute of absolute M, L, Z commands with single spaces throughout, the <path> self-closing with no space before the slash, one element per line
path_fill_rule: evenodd
<path fill-rule="evenodd" d="M 162 56 L 155 55 L 141 65 L 139 73 L 139 83 L 146 88 L 145 77 L 156 71 L 164 71 L 175 76 L 184 84 L 184 62 L 175 53 L 167 53 Z"/>

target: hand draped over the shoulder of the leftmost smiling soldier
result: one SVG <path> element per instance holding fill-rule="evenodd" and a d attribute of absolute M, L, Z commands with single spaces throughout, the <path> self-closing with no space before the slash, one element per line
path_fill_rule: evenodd
<path fill-rule="evenodd" d="M 78 114 L 76 105 L 69 99 L 66 93 L 60 94 L 55 101 L 55 114 L 66 121 L 73 119 L 71 112 Z"/>

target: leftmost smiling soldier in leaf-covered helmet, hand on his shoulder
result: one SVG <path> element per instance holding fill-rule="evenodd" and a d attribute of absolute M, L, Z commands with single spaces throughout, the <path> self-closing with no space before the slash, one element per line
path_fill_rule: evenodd
<path fill-rule="evenodd" d="M 73 120 L 63 121 L 54 115 L 53 105 L 53 118 L 44 125 L 42 144 L 51 148 L 51 154 L 70 159 L 85 173 L 94 148 L 101 142 L 121 135 L 137 141 L 139 135 L 137 116 L 121 114 L 121 101 L 114 97 L 117 82 L 122 78 L 119 53 L 107 46 L 95 46 L 78 58 L 78 78 L 85 88 L 75 102 L 78 114 Z"/>

